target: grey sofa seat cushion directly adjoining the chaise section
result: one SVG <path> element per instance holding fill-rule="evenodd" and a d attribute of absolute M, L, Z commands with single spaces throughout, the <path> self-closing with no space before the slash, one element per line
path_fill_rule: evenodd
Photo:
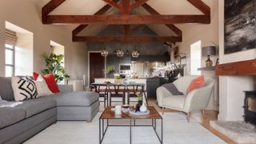
<path fill-rule="evenodd" d="M 26 118 L 29 118 L 34 114 L 41 113 L 42 111 L 56 107 L 56 101 L 53 98 L 37 98 L 23 102 L 24 103 L 17 106 L 17 108 L 22 108 L 26 110 Z"/>

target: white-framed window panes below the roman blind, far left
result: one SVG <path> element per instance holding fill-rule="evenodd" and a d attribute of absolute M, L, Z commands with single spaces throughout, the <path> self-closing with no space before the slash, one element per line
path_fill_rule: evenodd
<path fill-rule="evenodd" d="M 15 48 L 12 45 L 6 44 L 6 77 L 14 76 L 15 71 Z"/>

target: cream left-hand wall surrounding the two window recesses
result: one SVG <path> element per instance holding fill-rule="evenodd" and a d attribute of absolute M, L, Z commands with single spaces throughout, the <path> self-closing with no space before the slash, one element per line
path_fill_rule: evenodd
<path fill-rule="evenodd" d="M 40 72 L 44 68 L 42 54 L 50 52 L 50 40 L 53 40 L 65 46 L 66 71 L 71 78 L 82 79 L 86 73 L 86 43 L 72 42 L 71 30 L 66 29 L 66 26 L 42 25 L 41 10 L 30 0 L 0 1 L 0 76 L 5 75 L 5 21 L 34 34 L 34 71 Z"/>

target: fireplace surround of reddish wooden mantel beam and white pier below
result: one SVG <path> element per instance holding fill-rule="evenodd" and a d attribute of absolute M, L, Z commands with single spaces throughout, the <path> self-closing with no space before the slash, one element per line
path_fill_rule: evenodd
<path fill-rule="evenodd" d="M 256 59 L 218 65 L 220 105 L 218 121 L 243 121 L 245 92 L 256 90 Z"/>

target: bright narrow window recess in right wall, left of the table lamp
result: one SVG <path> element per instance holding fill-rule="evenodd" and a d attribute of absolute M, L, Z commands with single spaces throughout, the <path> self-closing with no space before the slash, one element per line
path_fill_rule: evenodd
<path fill-rule="evenodd" d="M 201 41 L 190 46 L 190 55 L 190 74 L 201 75 L 201 71 L 198 70 L 201 67 Z"/>

